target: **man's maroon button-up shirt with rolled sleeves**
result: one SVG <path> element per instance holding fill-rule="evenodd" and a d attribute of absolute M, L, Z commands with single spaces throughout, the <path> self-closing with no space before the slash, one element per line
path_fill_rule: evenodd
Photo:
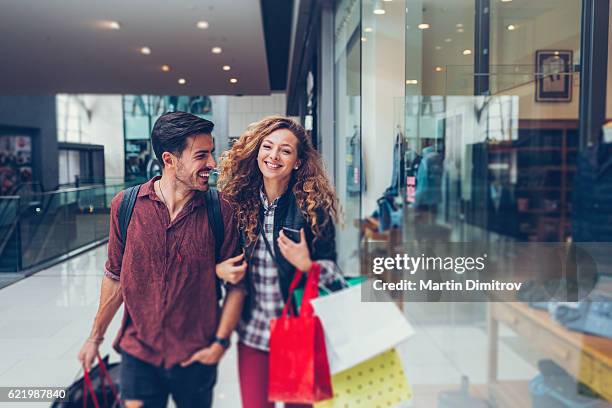
<path fill-rule="evenodd" d="M 125 248 L 118 210 L 123 193 L 111 202 L 106 276 L 121 282 L 124 315 L 114 342 L 156 366 L 170 368 L 212 343 L 220 317 L 215 286 L 215 239 L 203 193 L 197 192 L 171 222 L 157 197 L 154 178 L 140 187 Z M 238 231 L 221 196 L 225 239 L 221 260 L 236 254 Z M 242 286 L 226 285 L 229 290 Z"/>

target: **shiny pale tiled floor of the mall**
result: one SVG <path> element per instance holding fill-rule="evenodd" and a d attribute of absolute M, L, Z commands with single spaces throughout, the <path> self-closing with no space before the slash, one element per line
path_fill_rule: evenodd
<path fill-rule="evenodd" d="M 98 306 L 105 251 L 99 247 L 0 289 L 0 386 L 67 386 L 79 375 L 76 355 Z M 423 304 L 407 303 L 405 309 L 411 320 L 423 322 L 431 316 L 436 322 L 415 325 L 415 335 L 399 346 L 415 394 L 420 387 L 457 389 L 462 375 L 472 384 L 486 383 L 484 322 L 466 324 L 470 316 L 434 318 L 439 311 L 428 311 Z M 415 310 L 419 316 L 411 315 Z M 119 322 L 118 314 L 102 346 L 102 353 L 109 353 L 112 361 L 118 360 L 110 343 Z M 537 356 L 510 331 L 502 330 L 500 338 L 500 378 L 533 378 Z M 234 350 L 220 366 L 216 407 L 240 407 Z M 5 406 L 11 405 L 0 403 Z"/>

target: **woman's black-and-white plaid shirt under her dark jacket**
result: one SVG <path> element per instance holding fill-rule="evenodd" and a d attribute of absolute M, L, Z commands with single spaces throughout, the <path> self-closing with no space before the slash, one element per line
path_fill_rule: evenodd
<path fill-rule="evenodd" d="M 264 207 L 264 221 L 262 233 L 274 251 L 274 214 L 279 198 L 272 204 L 263 192 L 260 192 Z M 336 263 L 332 260 L 317 260 L 321 266 L 319 284 L 325 286 L 341 277 Z M 280 317 L 285 305 L 285 299 L 280 289 L 278 271 L 274 259 L 266 248 L 263 236 L 260 234 L 255 244 L 253 257 L 249 265 L 250 273 L 255 287 L 255 305 L 248 321 L 238 323 L 238 336 L 240 341 L 249 347 L 268 351 L 270 349 L 270 320 Z"/>

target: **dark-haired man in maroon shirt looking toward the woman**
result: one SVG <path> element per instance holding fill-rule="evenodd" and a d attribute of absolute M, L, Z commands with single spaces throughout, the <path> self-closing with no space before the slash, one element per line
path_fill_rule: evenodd
<path fill-rule="evenodd" d="M 162 176 L 140 187 L 125 243 L 118 221 L 123 193 L 111 203 L 100 306 L 79 360 L 91 368 L 124 302 L 114 347 L 122 356 L 121 396 L 128 408 L 165 407 L 169 394 L 178 407 L 209 407 L 217 363 L 240 316 L 240 283 L 226 284 L 222 311 L 217 299 L 215 237 L 204 197 L 216 165 L 213 126 L 184 112 L 166 113 L 155 122 L 151 143 Z M 236 255 L 238 231 L 227 202 L 223 197 L 220 202 L 223 261 Z"/>

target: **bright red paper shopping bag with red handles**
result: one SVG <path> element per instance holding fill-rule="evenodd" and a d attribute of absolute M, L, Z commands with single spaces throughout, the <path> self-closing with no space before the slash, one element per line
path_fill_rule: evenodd
<path fill-rule="evenodd" d="M 295 316 L 291 299 L 302 277 L 302 271 L 296 271 L 283 314 L 270 322 L 270 401 L 309 404 L 333 397 L 323 326 L 310 305 L 318 295 L 320 273 L 313 263 Z"/>

